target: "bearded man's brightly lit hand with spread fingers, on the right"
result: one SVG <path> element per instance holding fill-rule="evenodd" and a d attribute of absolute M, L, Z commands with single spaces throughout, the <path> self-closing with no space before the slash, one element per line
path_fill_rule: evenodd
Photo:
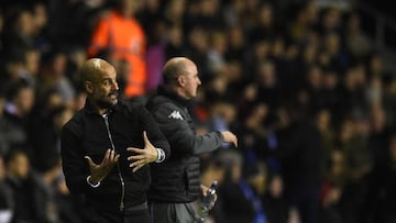
<path fill-rule="evenodd" d="M 144 140 L 144 148 L 135 148 L 128 147 L 127 150 L 133 152 L 138 155 L 128 157 L 128 160 L 132 160 L 133 163 L 130 165 L 132 167 L 132 171 L 136 171 L 142 168 L 144 165 L 153 163 L 158 157 L 158 150 L 153 146 L 153 144 L 148 141 L 146 131 L 143 132 Z"/>

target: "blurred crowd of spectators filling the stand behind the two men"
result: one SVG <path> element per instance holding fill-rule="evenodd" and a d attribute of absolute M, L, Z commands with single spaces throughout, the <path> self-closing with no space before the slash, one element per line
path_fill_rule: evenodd
<path fill-rule="evenodd" d="M 396 79 L 356 5 L 280 0 L 2 0 L 0 222 L 80 222 L 59 132 L 89 57 L 144 103 L 168 58 L 198 65 L 197 131 L 240 145 L 201 157 L 207 222 L 396 222 Z"/>

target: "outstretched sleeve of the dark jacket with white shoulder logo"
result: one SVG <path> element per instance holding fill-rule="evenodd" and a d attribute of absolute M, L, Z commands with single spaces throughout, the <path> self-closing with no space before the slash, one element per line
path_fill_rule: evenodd
<path fill-rule="evenodd" d="M 172 103 L 163 103 L 153 114 L 170 144 L 172 152 L 178 155 L 201 154 L 212 152 L 221 146 L 223 136 L 220 132 L 198 135 L 191 130 L 186 118 L 176 119 L 170 115 L 174 111 L 183 114 L 179 108 Z"/>

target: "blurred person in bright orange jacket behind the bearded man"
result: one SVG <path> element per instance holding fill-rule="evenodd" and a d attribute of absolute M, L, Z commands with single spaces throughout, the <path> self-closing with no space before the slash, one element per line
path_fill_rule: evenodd
<path fill-rule="evenodd" d="M 106 52 L 112 59 L 127 62 L 123 93 L 127 98 L 145 93 L 145 33 L 134 18 L 140 1 L 118 0 L 118 7 L 101 18 L 94 29 L 88 56 Z"/>

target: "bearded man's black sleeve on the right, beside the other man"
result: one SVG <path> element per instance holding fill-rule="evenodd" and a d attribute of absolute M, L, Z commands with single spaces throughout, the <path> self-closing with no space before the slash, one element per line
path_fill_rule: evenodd
<path fill-rule="evenodd" d="M 150 142 L 156 147 L 162 148 L 165 153 L 165 160 L 170 156 L 170 146 L 164 134 L 161 132 L 152 114 L 143 105 L 139 109 L 139 120 L 142 123 L 143 131 L 146 131 Z"/>

